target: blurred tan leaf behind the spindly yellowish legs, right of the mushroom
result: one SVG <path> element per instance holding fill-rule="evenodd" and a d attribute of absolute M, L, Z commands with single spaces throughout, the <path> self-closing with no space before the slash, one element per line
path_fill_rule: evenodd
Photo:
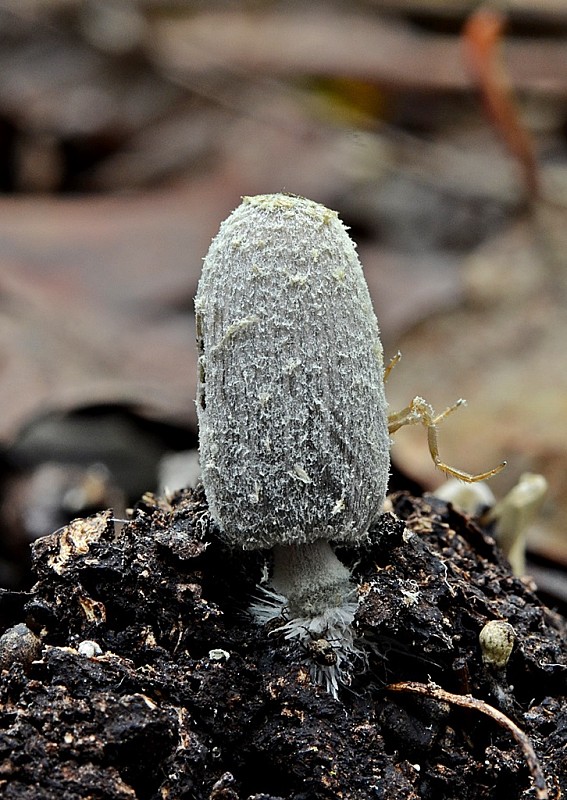
<path fill-rule="evenodd" d="M 544 235 L 567 247 L 564 208 L 547 209 Z M 565 250 L 563 250 L 565 252 Z M 446 463 L 471 472 L 508 461 L 490 485 L 508 491 L 522 472 L 543 474 L 550 501 L 532 548 L 567 563 L 567 284 L 550 270 L 541 230 L 524 221 L 480 248 L 465 265 L 465 302 L 399 339 L 403 353 L 388 383 L 395 410 L 416 394 L 442 411 L 459 397 L 468 408 L 440 431 Z M 393 457 L 424 485 L 443 478 L 431 464 L 422 430 L 397 434 Z"/>

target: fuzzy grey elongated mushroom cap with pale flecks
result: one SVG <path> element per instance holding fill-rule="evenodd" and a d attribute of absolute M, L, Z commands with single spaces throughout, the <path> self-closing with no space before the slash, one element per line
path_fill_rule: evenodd
<path fill-rule="evenodd" d="M 246 549 L 355 542 L 381 512 L 389 436 L 378 324 L 335 211 L 245 197 L 195 300 L 211 514 Z"/>

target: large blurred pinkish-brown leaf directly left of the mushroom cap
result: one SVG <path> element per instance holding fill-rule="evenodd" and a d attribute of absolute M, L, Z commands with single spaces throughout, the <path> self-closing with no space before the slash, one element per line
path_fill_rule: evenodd
<path fill-rule="evenodd" d="M 193 421 L 192 292 L 227 205 L 222 179 L 0 201 L 2 439 L 40 410 L 97 403 Z"/>

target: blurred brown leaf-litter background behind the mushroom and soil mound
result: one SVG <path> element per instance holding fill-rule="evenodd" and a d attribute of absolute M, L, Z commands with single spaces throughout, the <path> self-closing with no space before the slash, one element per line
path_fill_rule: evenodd
<path fill-rule="evenodd" d="M 528 572 L 567 602 L 567 3 L 0 2 L 0 586 L 29 544 L 194 480 L 193 295 L 245 194 L 339 211 L 392 410 L 500 499 L 549 491 Z M 394 488 L 431 491 L 423 428 Z"/>

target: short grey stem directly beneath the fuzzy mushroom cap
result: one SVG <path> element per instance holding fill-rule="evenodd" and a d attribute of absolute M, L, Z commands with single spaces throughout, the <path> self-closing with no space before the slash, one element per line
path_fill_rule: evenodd
<path fill-rule="evenodd" d="M 287 599 L 291 617 L 316 617 L 352 598 L 350 572 L 326 539 L 275 545 L 272 585 Z"/>

